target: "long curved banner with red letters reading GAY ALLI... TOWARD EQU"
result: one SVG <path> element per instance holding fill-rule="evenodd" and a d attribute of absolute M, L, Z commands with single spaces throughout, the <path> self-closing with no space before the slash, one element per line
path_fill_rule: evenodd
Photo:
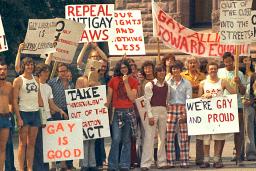
<path fill-rule="evenodd" d="M 224 52 L 235 53 L 236 45 L 220 44 L 218 33 L 196 32 L 166 14 L 156 3 L 153 6 L 153 17 L 156 18 L 156 33 L 166 46 L 183 53 L 201 57 L 220 57 Z M 243 55 L 249 55 L 249 45 L 239 46 Z"/>

